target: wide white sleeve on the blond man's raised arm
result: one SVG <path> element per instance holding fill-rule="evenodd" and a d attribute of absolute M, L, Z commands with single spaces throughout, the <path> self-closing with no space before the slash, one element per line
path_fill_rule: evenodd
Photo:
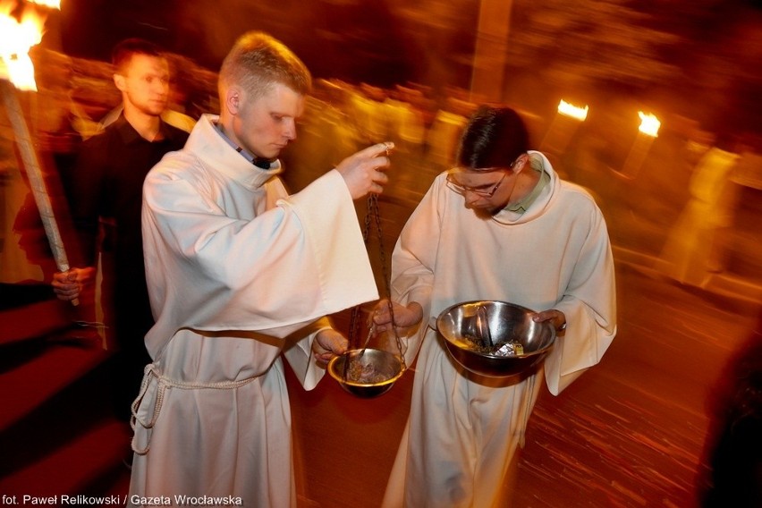
<path fill-rule="evenodd" d="M 349 190 L 336 171 L 253 217 L 209 179 L 152 172 L 143 237 L 152 354 L 182 327 L 284 338 L 378 298 Z M 224 185 L 219 185 L 224 190 Z M 225 200 L 233 201 L 232 203 Z"/>

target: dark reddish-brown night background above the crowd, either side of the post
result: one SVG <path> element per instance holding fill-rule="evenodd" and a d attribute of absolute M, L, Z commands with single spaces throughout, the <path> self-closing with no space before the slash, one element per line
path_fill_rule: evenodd
<path fill-rule="evenodd" d="M 712 131 L 758 132 L 760 4 L 513 0 L 504 98 L 539 109 L 559 93 L 633 97 Z M 115 42 L 139 36 L 216 72 L 242 32 L 266 30 L 316 77 L 468 89 L 478 9 L 478 0 L 62 0 L 44 44 L 108 60 Z"/>

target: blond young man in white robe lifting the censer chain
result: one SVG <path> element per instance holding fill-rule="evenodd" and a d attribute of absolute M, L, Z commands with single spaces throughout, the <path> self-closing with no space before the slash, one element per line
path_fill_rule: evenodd
<path fill-rule="evenodd" d="M 277 157 L 310 83 L 283 44 L 242 35 L 219 74 L 219 117 L 202 116 L 146 178 L 157 322 L 133 404 L 129 504 L 296 504 L 280 355 L 311 389 L 346 349 L 321 318 L 377 299 L 352 200 L 383 190 L 392 148 L 366 148 L 289 196 Z"/>

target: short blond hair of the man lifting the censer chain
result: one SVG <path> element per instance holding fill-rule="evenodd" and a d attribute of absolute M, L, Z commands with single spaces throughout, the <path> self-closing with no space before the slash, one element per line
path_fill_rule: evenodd
<path fill-rule="evenodd" d="M 220 68 L 224 86 L 241 86 L 253 97 L 265 93 L 275 83 L 307 95 L 312 76 L 291 49 L 267 33 L 249 31 L 235 41 Z"/>

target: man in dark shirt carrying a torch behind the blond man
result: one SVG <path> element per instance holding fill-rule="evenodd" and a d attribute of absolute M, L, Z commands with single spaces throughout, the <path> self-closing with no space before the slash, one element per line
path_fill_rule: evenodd
<path fill-rule="evenodd" d="M 140 233 L 143 180 L 165 153 L 182 148 L 188 132 L 160 117 L 169 98 L 169 65 L 161 50 L 132 38 L 114 47 L 112 56 L 123 113 L 82 144 L 72 175 L 72 220 L 84 267 L 56 273 L 53 287 L 61 300 L 79 298 L 95 282 L 98 252 L 113 250 L 113 270 L 104 270 L 104 285 L 112 288 L 114 297 L 104 307 L 114 313 L 107 320 L 114 328 L 116 349 L 114 410 L 127 420 L 143 368 L 151 361 L 144 343 L 153 318 Z"/>

